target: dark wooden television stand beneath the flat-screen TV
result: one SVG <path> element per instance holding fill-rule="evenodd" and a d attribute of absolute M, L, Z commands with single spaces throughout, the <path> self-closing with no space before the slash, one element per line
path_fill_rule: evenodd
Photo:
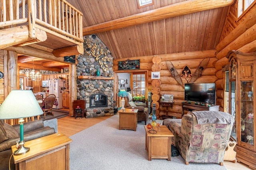
<path fill-rule="evenodd" d="M 207 104 L 202 106 L 199 104 L 194 104 L 194 102 L 191 102 L 191 103 L 182 102 L 181 117 L 184 115 L 184 110 L 187 110 L 187 111 L 193 111 L 193 110 L 196 110 L 196 111 L 202 111 L 202 110 L 219 111 L 219 106 L 213 105 L 213 104 L 211 106 L 208 106 Z"/>

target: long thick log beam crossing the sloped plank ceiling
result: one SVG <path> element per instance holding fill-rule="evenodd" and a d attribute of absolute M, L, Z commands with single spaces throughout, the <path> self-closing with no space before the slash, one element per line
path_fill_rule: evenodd
<path fill-rule="evenodd" d="M 140 14 L 84 27 L 83 35 L 91 35 L 94 33 L 111 31 L 114 29 L 163 20 L 166 18 L 192 14 L 194 12 L 230 6 L 234 1 L 235 0 L 187 0 L 169 6 L 164 6 L 162 8 L 157 8 L 155 10 L 142 12 Z"/>

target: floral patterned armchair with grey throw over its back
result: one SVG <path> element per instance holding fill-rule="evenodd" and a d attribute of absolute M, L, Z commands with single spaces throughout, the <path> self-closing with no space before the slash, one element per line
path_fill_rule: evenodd
<path fill-rule="evenodd" d="M 221 111 L 194 111 L 182 117 L 181 125 L 176 120 L 164 119 L 163 124 L 174 134 L 172 145 L 179 150 L 186 165 L 201 162 L 223 166 L 234 123 L 232 115 Z"/>

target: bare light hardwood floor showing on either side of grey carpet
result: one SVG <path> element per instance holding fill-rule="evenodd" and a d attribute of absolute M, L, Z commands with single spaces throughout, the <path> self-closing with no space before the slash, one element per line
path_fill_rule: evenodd
<path fill-rule="evenodd" d="M 58 119 L 58 132 L 64 133 L 66 136 L 70 137 L 88 127 L 91 127 L 101 121 L 104 121 L 111 116 L 95 117 L 95 118 L 82 118 L 75 119 L 74 117 L 62 117 Z M 252 170 L 247 165 L 242 163 L 233 163 L 232 161 L 224 161 L 224 165 L 228 170 Z M 189 165 L 188 165 L 189 166 Z"/>

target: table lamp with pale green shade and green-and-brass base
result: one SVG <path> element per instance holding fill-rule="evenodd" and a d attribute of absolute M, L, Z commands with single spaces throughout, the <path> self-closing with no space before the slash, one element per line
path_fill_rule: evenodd
<path fill-rule="evenodd" d="M 12 90 L 0 106 L 0 119 L 20 119 L 20 149 L 14 151 L 14 155 L 25 154 L 30 148 L 24 147 L 24 117 L 42 115 L 39 106 L 31 90 Z"/>

